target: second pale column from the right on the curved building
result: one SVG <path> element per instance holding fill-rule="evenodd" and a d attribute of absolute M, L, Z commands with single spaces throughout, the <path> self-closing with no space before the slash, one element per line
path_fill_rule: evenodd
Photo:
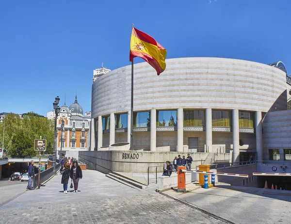
<path fill-rule="evenodd" d="M 232 110 L 232 141 L 233 141 L 233 162 L 240 161 L 240 128 L 239 110 Z"/>

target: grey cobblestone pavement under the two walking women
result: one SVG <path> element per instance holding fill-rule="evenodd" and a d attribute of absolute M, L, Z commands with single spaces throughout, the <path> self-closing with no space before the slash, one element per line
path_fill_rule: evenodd
<path fill-rule="evenodd" d="M 157 192 L 125 186 L 97 171 L 84 171 L 83 176 L 78 194 L 64 194 L 58 175 L 40 190 L 19 195 L 0 207 L 0 223 L 225 223 Z"/>

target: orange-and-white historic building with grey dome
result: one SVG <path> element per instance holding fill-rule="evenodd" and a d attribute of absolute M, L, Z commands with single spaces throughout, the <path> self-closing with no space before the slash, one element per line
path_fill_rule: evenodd
<path fill-rule="evenodd" d="M 66 157 L 78 158 L 79 151 L 88 150 L 91 117 L 88 112 L 85 115 L 83 114 L 83 109 L 78 103 L 77 96 L 75 97 L 74 103 L 69 107 L 66 104 L 61 107 L 57 118 L 57 158 L 60 157 L 61 153 Z M 53 119 L 53 117 L 51 118 Z M 62 120 L 64 120 L 63 131 L 61 128 Z"/>

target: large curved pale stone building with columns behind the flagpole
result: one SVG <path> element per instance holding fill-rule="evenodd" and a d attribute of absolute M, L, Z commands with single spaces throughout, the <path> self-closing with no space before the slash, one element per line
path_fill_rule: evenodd
<path fill-rule="evenodd" d="M 262 118 L 287 110 L 285 66 L 227 58 L 166 64 L 160 76 L 147 63 L 134 64 L 134 150 L 233 151 L 234 161 L 263 159 Z M 91 150 L 129 142 L 130 84 L 131 65 L 93 83 Z"/>

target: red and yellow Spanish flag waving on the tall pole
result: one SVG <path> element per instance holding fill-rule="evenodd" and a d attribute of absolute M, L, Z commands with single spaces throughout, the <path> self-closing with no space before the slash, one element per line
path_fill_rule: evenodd
<path fill-rule="evenodd" d="M 166 68 L 166 56 L 167 50 L 154 38 L 132 27 L 129 62 L 135 57 L 143 58 L 160 75 Z"/>

